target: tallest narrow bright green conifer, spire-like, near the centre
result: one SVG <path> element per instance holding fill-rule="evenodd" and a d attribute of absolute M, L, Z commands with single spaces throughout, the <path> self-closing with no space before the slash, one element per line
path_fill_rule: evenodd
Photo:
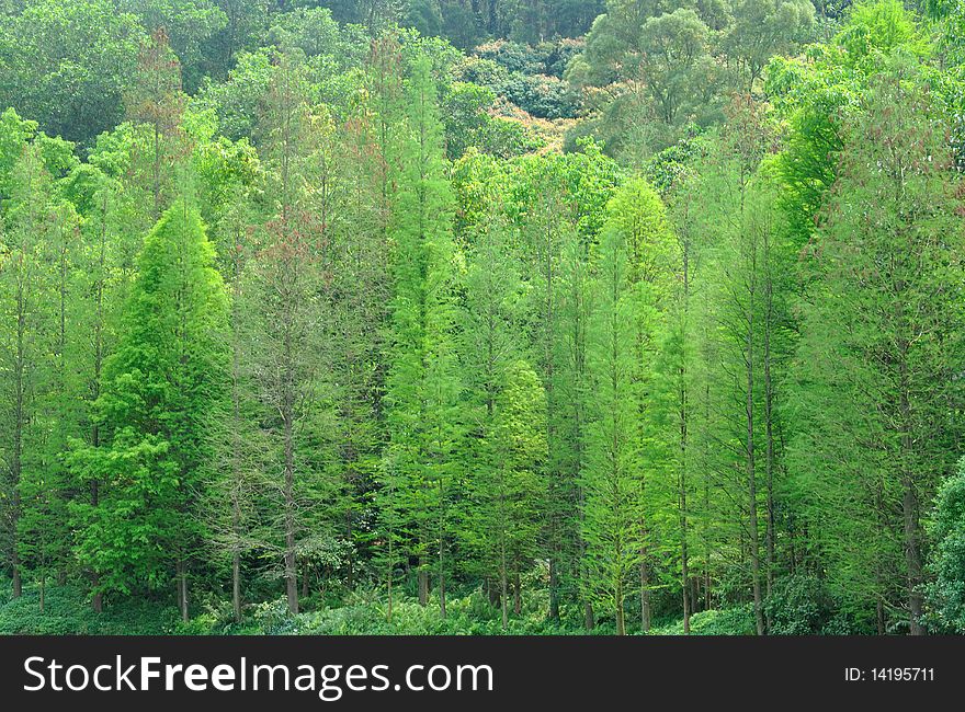
<path fill-rule="evenodd" d="M 444 616 L 461 387 L 452 338 L 453 197 L 444 172 L 435 88 L 425 58 L 412 68 L 408 125 L 391 231 L 395 294 L 385 395 L 390 441 L 382 487 L 384 506 L 401 513 L 401 531 L 394 530 L 389 519 L 383 524 L 387 543 L 398 541 L 418 562 L 419 600 L 423 605 L 434 570 Z M 394 576 L 393 559 L 387 563 L 389 579 Z"/>

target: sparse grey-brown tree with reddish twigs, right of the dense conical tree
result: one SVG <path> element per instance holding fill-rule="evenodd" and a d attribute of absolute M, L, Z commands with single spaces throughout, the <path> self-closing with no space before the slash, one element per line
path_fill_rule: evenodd
<path fill-rule="evenodd" d="M 250 261 L 250 364 L 269 462 L 271 491 L 279 493 L 262 546 L 281 561 L 288 610 L 297 613 L 300 547 L 311 536 L 311 521 L 327 478 L 314 467 L 319 439 L 319 402 L 325 321 L 325 230 L 308 209 L 314 141 L 307 104 L 305 68 L 297 54 L 283 54 L 265 96 L 264 164 L 271 171 L 274 216 L 259 234 Z M 276 513 L 276 514 L 275 514 Z"/>

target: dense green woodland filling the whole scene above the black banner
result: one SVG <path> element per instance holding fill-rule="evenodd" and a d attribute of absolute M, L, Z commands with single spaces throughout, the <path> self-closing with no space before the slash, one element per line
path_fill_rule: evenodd
<path fill-rule="evenodd" d="M 0 631 L 965 632 L 961 2 L 0 14 Z"/>

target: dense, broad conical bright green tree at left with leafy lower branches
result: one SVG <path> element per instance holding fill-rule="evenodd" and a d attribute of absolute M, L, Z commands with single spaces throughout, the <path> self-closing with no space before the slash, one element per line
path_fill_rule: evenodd
<path fill-rule="evenodd" d="M 103 590 L 158 587 L 174 569 L 189 615 L 189 571 L 202 531 L 209 413 L 225 395 L 227 296 L 196 208 L 180 198 L 146 238 L 98 400 L 100 447 L 71 464 L 105 484 L 84 513 L 78 554 Z"/>

